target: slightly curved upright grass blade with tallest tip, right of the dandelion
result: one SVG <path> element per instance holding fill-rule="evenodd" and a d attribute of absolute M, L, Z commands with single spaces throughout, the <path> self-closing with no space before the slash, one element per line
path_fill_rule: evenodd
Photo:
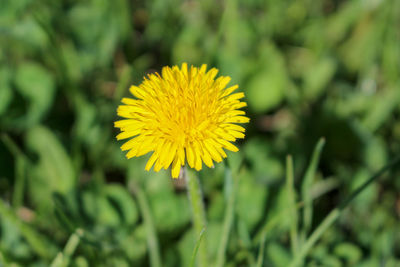
<path fill-rule="evenodd" d="M 317 145 L 315 146 L 310 165 L 304 175 L 304 180 L 301 186 L 302 200 L 304 201 L 304 212 L 303 212 L 303 231 L 302 237 L 305 239 L 307 233 L 311 229 L 312 222 L 312 196 L 311 196 L 311 186 L 314 183 L 315 173 L 317 171 L 319 159 L 321 157 L 322 149 L 325 145 L 325 138 L 319 139 Z"/>

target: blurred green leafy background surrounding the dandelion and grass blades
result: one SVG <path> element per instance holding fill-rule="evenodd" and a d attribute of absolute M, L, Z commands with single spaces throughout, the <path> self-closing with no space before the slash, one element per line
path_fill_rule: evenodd
<path fill-rule="evenodd" d="M 2 0 L 0 48 L 1 266 L 49 266 L 76 229 L 85 237 L 69 266 L 148 266 L 147 215 L 163 266 L 189 265 L 197 237 L 184 187 L 168 171 L 145 172 L 147 156 L 126 160 L 113 128 L 129 86 L 165 65 L 206 63 L 246 94 L 251 123 L 229 155 L 226 266 L 256 263 L 266 225 L 263 266 L 292 258 L 286 155 L 296 202 L 314 198 L 310 233 L 400 152 L 397 0 Z M 199 173 L 213 259 L 232 193 L 225 166 Z M 400 266 L 399 192 L 395 168 L 304 264 Z"/>

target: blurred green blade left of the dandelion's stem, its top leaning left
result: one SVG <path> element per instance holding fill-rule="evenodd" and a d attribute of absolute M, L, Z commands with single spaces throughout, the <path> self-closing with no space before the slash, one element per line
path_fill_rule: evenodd
<path fill-rule="evenodd" d="M 157 239 L 156 228 L 154 226 L 153 216 L 150 211 L 150 206 L 147 201 L 146 194 L 143 192 L 140 186 L 132 184 L 130 188 L 136 195 L 139 209 L 143 215 L 144 225 L 146 226 L 147 245 L 149 246 L 150 254 L 150 265 L 152 267 L 161 267 L 160 248 Z"/>

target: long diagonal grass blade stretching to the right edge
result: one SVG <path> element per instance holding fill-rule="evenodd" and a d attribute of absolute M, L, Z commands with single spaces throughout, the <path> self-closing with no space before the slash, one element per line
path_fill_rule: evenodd
<path fill-rule="evenodd" d="M 379 178 L 383 173 L 387 170 L 395 166 L 400 162 L 400 156 L 395 158 L 392 162 L 384 166 L 377 173 L 371 176 L 367 181 L 365 181 L 356 191 L 354 191 L 347 199 L 345 199 L 337 208 L 332 210 L 328 216 L 321 222 L 321 224 L 315 229 L 315 231 L 311 234 L 311 236 L 307 239 L 304 245 L 301 247 L 301 250 L 295 257 L 293 258 L 289 267 L 297 267 L 304 261 L 307 253 L 314 246 L 314 244 L 321 238 L 322 234 L 339 218 L 342 214 L 343 210 L 349 206 L 351 201 L 353 201 L 368 185 L 374 182 L 377 178 Z"/>

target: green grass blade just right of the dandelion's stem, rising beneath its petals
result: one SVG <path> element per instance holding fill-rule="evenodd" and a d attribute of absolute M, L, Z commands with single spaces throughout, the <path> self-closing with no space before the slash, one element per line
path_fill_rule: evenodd
<path fill-rule="evenodd" d="M 235 207 L 235 193 L 236 193 L 236 180 L 232 179 L 232 172 L 229 167 L 225 170 L 225 183 L 228 191 L 227 208 L 225 211 L 224 225 L 222 228 L 221 241 L 218 248 L 217 254 L 217 267 L 223 267 L 225 264 L 225 253 L 228 245 L 229 234 L 232 229 L 233 218 L 234 218 L 234 207 Z"/>

